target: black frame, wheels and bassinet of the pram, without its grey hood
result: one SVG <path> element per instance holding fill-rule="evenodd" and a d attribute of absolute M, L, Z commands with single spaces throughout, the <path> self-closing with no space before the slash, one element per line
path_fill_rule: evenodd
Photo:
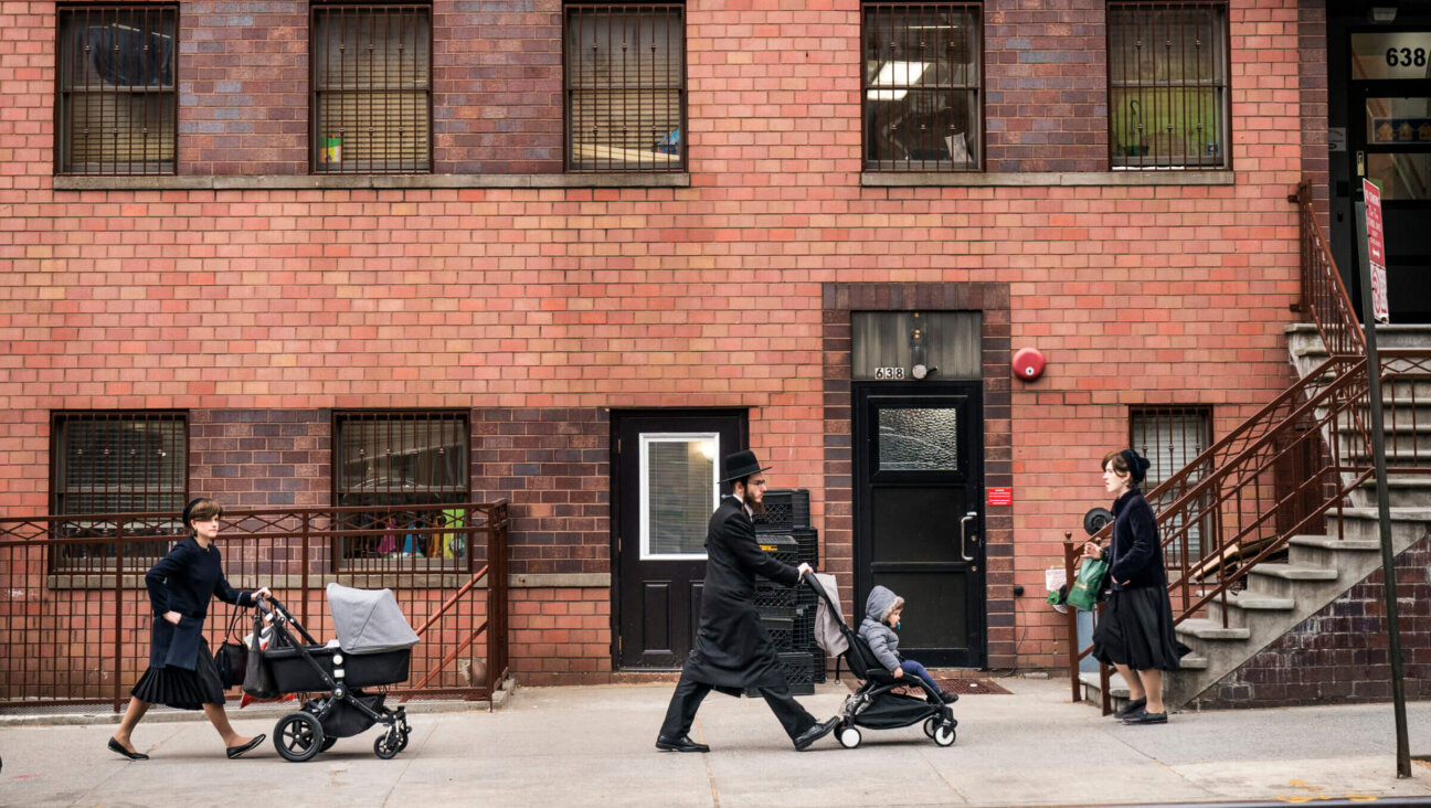
<path fill-rule="evenodd" d="M 368 694 L 361 688 L 406 681 L 411 648 L 385 654 L 345 654 L 338 648 L 319 645 L 273 596 L 260 599 L 258 609 L 273 621 L 273 639 L 260 654 L 278 691 L 323 694 L 316 699 L 305 698 L 296 712 L 278 719 L 273 747 L 279 755 L 292 762 L 308 761 L 332 748 L 339 738 L 365 732 L 373 724 L 388 728 L 372 744 L 375 755 L 386 761 L 408 747 L 412 728 L 408 725 L 406 708 L 388 709 L 384 706 L 386 694 Z M 289 628 L 296 629 L 306 645 L 298 642 Z"/>

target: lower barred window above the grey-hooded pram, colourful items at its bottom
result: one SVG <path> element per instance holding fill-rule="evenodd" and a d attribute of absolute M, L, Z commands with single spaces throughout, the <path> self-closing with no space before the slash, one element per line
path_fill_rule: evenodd
<path fill-rule="evenodd" d="M 333 502 L 341 508 L 468 502 L 468 415 L 465 412 L 339 412 L 333 415 Z M 348 531 L 385 531 L 343 539 L 342 556 L 412 555 L 451 558 L 454 535 L 415 533 L 461 526 L 462 509 L 444 512 L 343 513 Z M 461 552 L 456 552 L 461 555 Z"/>

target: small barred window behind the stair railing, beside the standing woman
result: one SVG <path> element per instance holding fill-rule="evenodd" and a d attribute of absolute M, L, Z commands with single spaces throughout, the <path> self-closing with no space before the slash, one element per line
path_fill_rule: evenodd
<path fill-rule="evenodd" d="M 1142 489 L 1151 492 L 1163 481 L 1188 468 L 1198 455 L 1212 445 L 1212 408 L 1205 406 L 1151 406 L 1133 408 L 1129 413 L 1129 446 L 1139 455 L 1148 458 L 1148 478 Z M 1211 468 L 1191 469 L 1189 488 L 1211 472 Z M 1183 489 L 1186 491 L 1186 489 Z M 1153 511 L 1162 511 L 1173 503 L 1176 496 L 1151 501 Z M 1208 512 L 1211 513 L 1208 499 Z M 1211 531 L 1212 516 L 1199 521 L 1188 529 L 1188 558 L 1196 562 L 1202 558 L 1202 536 Z M 1181 522 L 1163 526 L 1163 538 L 1171 538 L 1169 531 L 1176 531 Z M 1181 563 L 1182 542 L 1175 541 L 1169 548 L 1166 562 Z"/>

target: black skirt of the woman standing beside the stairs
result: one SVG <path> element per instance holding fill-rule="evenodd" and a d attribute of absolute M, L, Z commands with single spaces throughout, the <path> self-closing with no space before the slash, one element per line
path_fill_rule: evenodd
<path fill-rule="evenodd" d="M 1115 589 L 1093 631 L 1093 658 L 1133 671 L 1176 671 L 1191 648 L 1172 629 L 1172 602 L 1162 586 Z"/>

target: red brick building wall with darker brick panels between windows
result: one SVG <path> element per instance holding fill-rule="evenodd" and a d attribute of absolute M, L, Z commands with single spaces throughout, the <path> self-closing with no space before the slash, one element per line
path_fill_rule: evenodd
<path fill-rule="evenodd" d="M 743 408 L 841 573 L 849 313 L 977 309 L 985 475 L 1015 489 L 989 513 L 990 664 L 1055 668 L 1043 569 L 1105 503 L 1095 459 L 1128 408 L 1211 405 L 1222 435 L 1285 389 L 1286 197 L 1325 159 L 1304 3 L 1232 3 L 1234 170 L 1211 179 L 1106 173 L 1103 4 L 1043 6 L 985 4 L 987 172 L 966 184 L 861 174 L 840 0 L 690 6 L 688 187 L 581 187 L 560 177 L 560 3 L 436 0 L 442 176 L 368 189 L 306 177 L 306 3 L 180 4 L 180 177 L 147 187 L 53 177 L 56 7 L 4 3 L 0 506 L 47 509 L 52 410 L 189 409 L 195 492 L 303 505 L 331 496 L 332 409 L 461 408 L 474 496 L 512 501 L 512 572 L 600 576 L 610 409 Z M 532 176 L 554 187 L 512 187 Z M 1035 383 L 1009 376 L 1022 346 L 1049 358 Z M 610 675 L 611 599 L 514 589 L 518 674 Z"/>

